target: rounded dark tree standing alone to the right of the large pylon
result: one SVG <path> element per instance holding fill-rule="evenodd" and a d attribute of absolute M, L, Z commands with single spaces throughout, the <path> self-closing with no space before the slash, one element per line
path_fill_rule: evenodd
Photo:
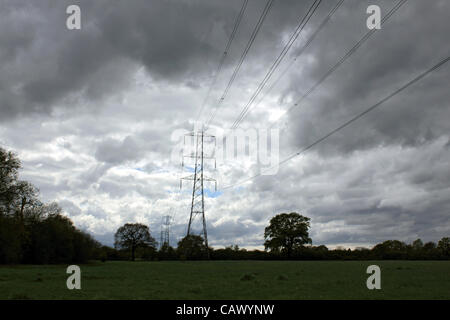
<path fill-rule="evenodd" d="M 276 215 L 264 230 L 264 247 L 273 252 L 285 251 L 290 258 L 294 249 L 312 243 L 308 233 L 310 220 L 296 212 Z"/>

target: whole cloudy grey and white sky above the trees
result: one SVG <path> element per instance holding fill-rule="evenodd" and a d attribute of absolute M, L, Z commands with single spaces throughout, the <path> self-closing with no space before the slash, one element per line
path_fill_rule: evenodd
<path fill-rule="evenodd" d="M 408 0 L 283 115 L 369 31 L 369 5 L 383 17 L 396 3 L 345 0 L 302 50 L 337 2 L 320 3 L 240 123 L 258 134 L 271 126 L 272 165 L 450 53 L 450 2 Z M 134 222 L 159 240 L 171 215 L 175 245 L 192 195 L 192 181 L 180 190 L 194 167 L 188 158 L 181 166 L 183 134 L 217 106 L 207 133 L 230 132 L 313 1 L 273 2 L 219 103 L 266 1 L 248 1 L 217 74 L 242 3 L 0 1 L 0 145 L 22 160 L 21 179 L 104 244 Z M 66 27 L 72 4 L 79 30 Z M 313 245 L 450 236 L 449 83 L 444 65 L 271 174 L 250 158 L 218 157 L 215 168 L 205 160 L 205 175 L 217 180 L 217 192 L 205 183 L 209 244 L 263 248 L 270 218 L 292 211 L 311 218 Z M 205 151 L 212 145 L 205 141 Z"/>

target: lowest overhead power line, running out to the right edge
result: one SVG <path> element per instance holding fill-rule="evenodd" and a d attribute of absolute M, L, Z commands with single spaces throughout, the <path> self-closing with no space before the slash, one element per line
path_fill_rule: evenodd
<path fill-rule="evenodd" d="M 374 104 L 373 106 L 365 109 L 364 111 L 362 111 L 361 113 L 357 114 L 356 116 L 354 116 L 353 118 L 351 118 L 350 120 L 344 122 L 343 124 L 341 124 L 340 126 L 338 126 L 337 128 L 331 130 L 330 132 L 328 132 L 326 135 L 324 135 L 323 137 L 321 137 L 320 139 L 317 139 L 316 141 L 314 141 L 313 143 L 311 143 L 310 145 L 304 147 L 303 149 L 301 149 L 300 151 L 290 155 L 289 157 L 283 159 L 282 161 L 280 161 L 276 166 L 272 166 L 267 170 L 271 170 L 273 168 L 279 167 L 283 164 L 285 164 L 286 162 L 288 162 L 289 160 L 291 160 L 292 158 L 295 158 L 303 153 L 305 153 L 306 151 L 312 149 L 313 147 L 315 147 L 316 145 L 318 145 L 319 143 L 323 142 L 324 140 L 328 139 L 330 136 L 332 136 L 333 134 L 335 134 L 336 132 L 344 129 L 345 127 L 349 126 L 350 124 L 352 124 L 353 122 L 355 122 L 356 120 L 362 118 L 363 116 L 365 116 L 366 114 L 368 114 L 369 112 L 373 111 L 374 109 L 378 108 L 379 106 L 381 106 L 383 103 L 385 103 L 386 101 L 390 100 L 392 97 L 394 97 L 395 95 L 399 94 L 400 92 L 402 92 L 403 90 L 405 90 L 406 88 L 408 88 L 409 86 L 413 85 L 414 83 L 418 82 L 419 80 L 421 80 L 422 78 L 424 78 L 425 76 L 427 76 L 429 73 L 435 71 L 436 69 L 440 68 L 441 66 L 443 66 L 445 63 L 447 63 L 450 60 L 450 56 L 448 56 L 447 58 L 441 60 L 440 62 L 438 62 L 437 64 L 435 64 L 433 67 L 431 67 L 430 69 L 426 70 L 425 72 L 421 73 L 420 75 L 418 75 L 417 77 L 415 77 L 414 79 L 412 79 L 411 81 L 407 82 L 406 84 L 404 84 L 402 87 L 400 87 L 399 89 L 395 90 L 394 92 L 392 92 L 391 94 L 389 94 L 388 96 L 386 96 L 385 98 L 381 99 L 380 101 L 378 101 L 376 104 Z M 261 176 L 263 173 L 259 173 L 256 174 L 252 177 L 249 177 L 247 179 L 241 180 L 240 182 L 230 185 L 230 186 L 226 186 L 223 189 L 229 189 L 238 185 L 243 184 L 246 181 L 252 180 L 256 177 Z"/>

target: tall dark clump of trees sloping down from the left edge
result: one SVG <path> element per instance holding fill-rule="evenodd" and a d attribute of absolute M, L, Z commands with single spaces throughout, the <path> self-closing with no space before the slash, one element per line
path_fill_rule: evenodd
<path fill-rule="evenodd" d="M 80 263 L 101 244 L 78 230 L 56 203 L 39 200 L 39 190 L 19 180 L 21 162 L 0 148 L 0 263 Z"/>

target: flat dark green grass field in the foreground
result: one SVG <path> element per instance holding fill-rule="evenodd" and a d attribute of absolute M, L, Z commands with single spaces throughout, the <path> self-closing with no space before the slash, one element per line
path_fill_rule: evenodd
<path fill-rule="evenodd" d="M 108 261 L 80 265 L 81 290 L 66 267 L 0 266 L 0 299 L 450 299 L 450 261 Z"/>

